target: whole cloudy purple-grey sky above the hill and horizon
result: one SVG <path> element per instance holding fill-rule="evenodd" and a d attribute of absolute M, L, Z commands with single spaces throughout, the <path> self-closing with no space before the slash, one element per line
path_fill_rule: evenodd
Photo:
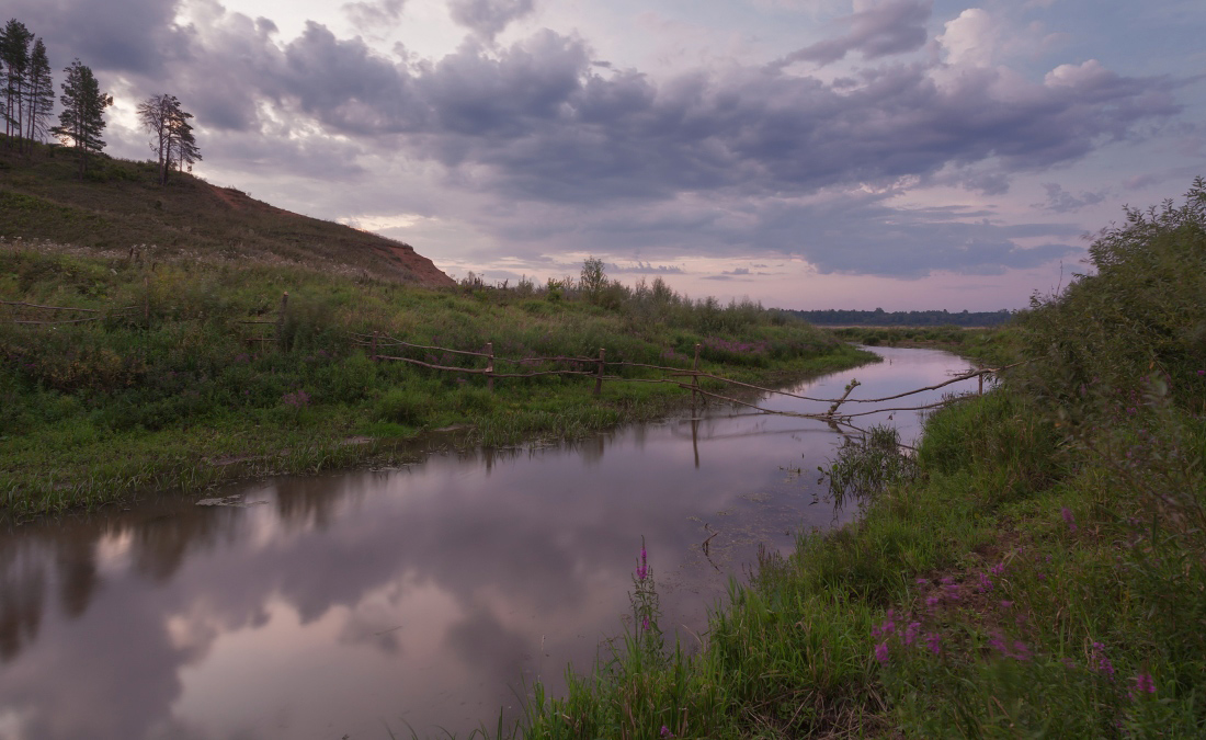
<path fill-rule="evenodd" d="M 996 311 L 1206 175 L 1201 0 L 7 0 L 195 174 L 514 284 Z M 55 75 L 55 86 L 63 78 Z"/>

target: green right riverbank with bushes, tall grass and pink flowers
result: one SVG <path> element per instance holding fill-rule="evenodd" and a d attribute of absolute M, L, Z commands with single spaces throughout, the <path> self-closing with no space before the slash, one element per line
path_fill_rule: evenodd
<path fill-rule="evenodd" d="M 699 654 L 622 656 L 525 734 L 1206 734 L 1206 183 L 1091 256 L 914 481 L 762 558 Z"/>

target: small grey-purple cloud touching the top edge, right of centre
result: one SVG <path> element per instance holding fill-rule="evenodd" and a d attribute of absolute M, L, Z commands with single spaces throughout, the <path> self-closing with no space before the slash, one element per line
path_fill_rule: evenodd
<path fill-rule="evenodd" d="M 903 54 L 925 45 L 925 24 L 933 6 L 931 0 L 891 0 L 877 7 L 842 18 L 850 30 L 789 54 L 778 64 L 814 61 L 830 64 L 859 52 L 863 59 Z"/>

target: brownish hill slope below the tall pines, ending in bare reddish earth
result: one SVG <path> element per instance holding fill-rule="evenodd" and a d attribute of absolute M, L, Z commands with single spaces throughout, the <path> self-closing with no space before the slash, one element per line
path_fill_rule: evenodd
<path fill-rule="evenodd" d="M 291 213 L 187 174 L 168 187 L 156 165 L 98 157 L 84 181 L 71 152 L 39 146 L 31 155 L 0 146 L 0 236 L 95 249 L 141 245 L 150 257 L 295 263 L 423 286 L 452 278 L 410 245 Z"/>

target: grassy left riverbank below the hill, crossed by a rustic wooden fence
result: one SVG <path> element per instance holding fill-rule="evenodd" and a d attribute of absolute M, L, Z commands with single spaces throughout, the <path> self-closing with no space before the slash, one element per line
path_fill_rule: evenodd
<path fill-rule="evenodd" d="M 488 342 L 499 372 L 564 369 L 539 358 L 593 358 L 601 347 L 613 363 L 689 369 L 697 343 L 702 370 L 762 383 L 873 359 L 753 304 L 690 301 L 657 282 L 567 288 L 437 290 L 153 249 L 4 245 L 0 298 L 77 310 L 6 306 L 5 318 L 95 321 L 0 324 L 0 511 L 27 517 L 140 491 L 387 463 L 404 454 L 398 441 L 447 427 L 486 446 L 575 439 L 690 398 L 674 384 L 620 381 L 596 398 L 593 380 L 572 376 L 497 378 L 490 390 L 476 357 L 408 354 L 464 372 L 373 362 L 357 335 L 374 331 L 470 352 Z M 631 365 L 608 375 L 665 377 Z"/>

